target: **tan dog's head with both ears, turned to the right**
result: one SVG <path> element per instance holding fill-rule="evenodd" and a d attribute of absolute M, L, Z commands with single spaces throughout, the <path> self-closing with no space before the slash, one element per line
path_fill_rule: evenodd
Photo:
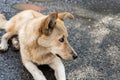
<path fill-rule="evenodd" d="M 59 56 L 65 60 L 77 58 L 77 53 L 70 46 L 67 38 L 68 33 L 64 25 L 65 18 L 73 19 L 74 16 L 68 12 L 50 13 L 41 22 L 41 36 L 38 44 L 46 47 L 52 54 Z"/>

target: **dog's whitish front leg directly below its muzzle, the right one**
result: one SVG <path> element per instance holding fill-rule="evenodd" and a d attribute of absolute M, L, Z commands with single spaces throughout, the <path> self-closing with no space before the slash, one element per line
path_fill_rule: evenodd
<path fill-rule="evenodd" d="M 55 71 L 57 80 L 66 80 L 65 68 L 60 58 L 56 57 L 49 66 Z"/>

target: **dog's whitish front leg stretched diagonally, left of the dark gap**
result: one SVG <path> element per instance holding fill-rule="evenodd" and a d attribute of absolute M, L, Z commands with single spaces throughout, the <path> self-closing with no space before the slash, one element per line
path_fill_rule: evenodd
<path fill-rule="evenodd" d="M 30 61 L 23 62 L 26 69 L 32 74 L 34 80 L 46 80 L 42 71 L 40 71 L 35 64 Z"/>

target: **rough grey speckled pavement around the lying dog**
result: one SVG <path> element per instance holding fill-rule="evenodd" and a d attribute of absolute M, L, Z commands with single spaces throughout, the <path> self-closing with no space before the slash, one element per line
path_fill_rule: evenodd
<path fill-rule="evenodd" d="M 17 10 L 14 3 L 27 0 L 0 0 L 0 12 L 9 19 Z M 68 11 L 74 20 L 65 21 L 69 41 L 79 57 L 75 61 L 63 61 L 68 80 L 120 80 L 120 0 L 59 0 L 30 2 L 51 11 Z M 4 32 L 1 30 L 0 35 Z M 48 80 L 52 70 L 42 67 Z M 49 74 L 50 73 L 50 74 Z M 0 80 L 33 80 L 22 66 L 19 52 L 0 54 Z"/>

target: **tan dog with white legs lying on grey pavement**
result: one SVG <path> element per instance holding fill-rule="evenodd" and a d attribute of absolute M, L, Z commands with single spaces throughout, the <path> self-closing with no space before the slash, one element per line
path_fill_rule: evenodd
<path fill-rule="evenodd" d="M 64 65 L 60 58 L 72 60 L 77 58 L 70 46 L 68 33 L 64 26 L 66 17 L 73 18 L 68 12 L 52 12 L 43 15 L 33 10 L 26 10 L 4 21 L 1 26 L 6 30 L 2 36 L 0 49 L 7 50 L 7 41 L 18 35 L 23 65 L 35 80 L 46 80 L 43 73 L 34 64 L 48 64 L 55 70 L 57 80 L 66 80 Z M 59 56 L 59 57 L 58 57 Z"/>

